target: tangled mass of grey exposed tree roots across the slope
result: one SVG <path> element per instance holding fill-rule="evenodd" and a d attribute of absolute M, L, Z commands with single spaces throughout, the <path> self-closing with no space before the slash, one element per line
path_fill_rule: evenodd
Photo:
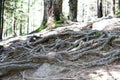
<path fill-rule="evenodd" d="M 42 63 L 82 68 L 111 64 L 120 59 L 119 33 L 67 30 L 11 44 L 0 53 L 0 76 Z"/>

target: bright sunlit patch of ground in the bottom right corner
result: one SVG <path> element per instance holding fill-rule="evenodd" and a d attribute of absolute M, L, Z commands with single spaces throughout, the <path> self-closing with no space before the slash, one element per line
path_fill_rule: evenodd
<path fill-rule="evenodd" d="M 120 66 L 100 68 L 90 73 L 89 76 L 92 80 L 120 80 Z"/>

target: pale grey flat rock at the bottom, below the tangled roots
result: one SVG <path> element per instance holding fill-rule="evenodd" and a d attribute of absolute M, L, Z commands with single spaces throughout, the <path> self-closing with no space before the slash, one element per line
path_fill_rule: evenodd
<path fill-rule="evenodd" d="M 66 67 L 44 63 L 37 70 L 25 72 L 25 80 L 59 80 L 58 75 L 66 70 Z M 67 69 L 68 71 L 68 69 Z"/>

